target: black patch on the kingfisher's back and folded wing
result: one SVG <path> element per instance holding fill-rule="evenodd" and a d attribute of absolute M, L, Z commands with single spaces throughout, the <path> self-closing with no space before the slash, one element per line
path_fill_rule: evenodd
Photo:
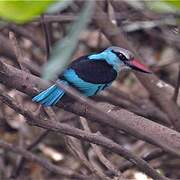
<path fill-rule="evenodd" d="M 78 77 L 94 84 L 107 84 L 117 77 L 117 72 L 105 60 L 89 60 L 83 56 L 73 61 L 68 69 L 75 70 Z"/>

